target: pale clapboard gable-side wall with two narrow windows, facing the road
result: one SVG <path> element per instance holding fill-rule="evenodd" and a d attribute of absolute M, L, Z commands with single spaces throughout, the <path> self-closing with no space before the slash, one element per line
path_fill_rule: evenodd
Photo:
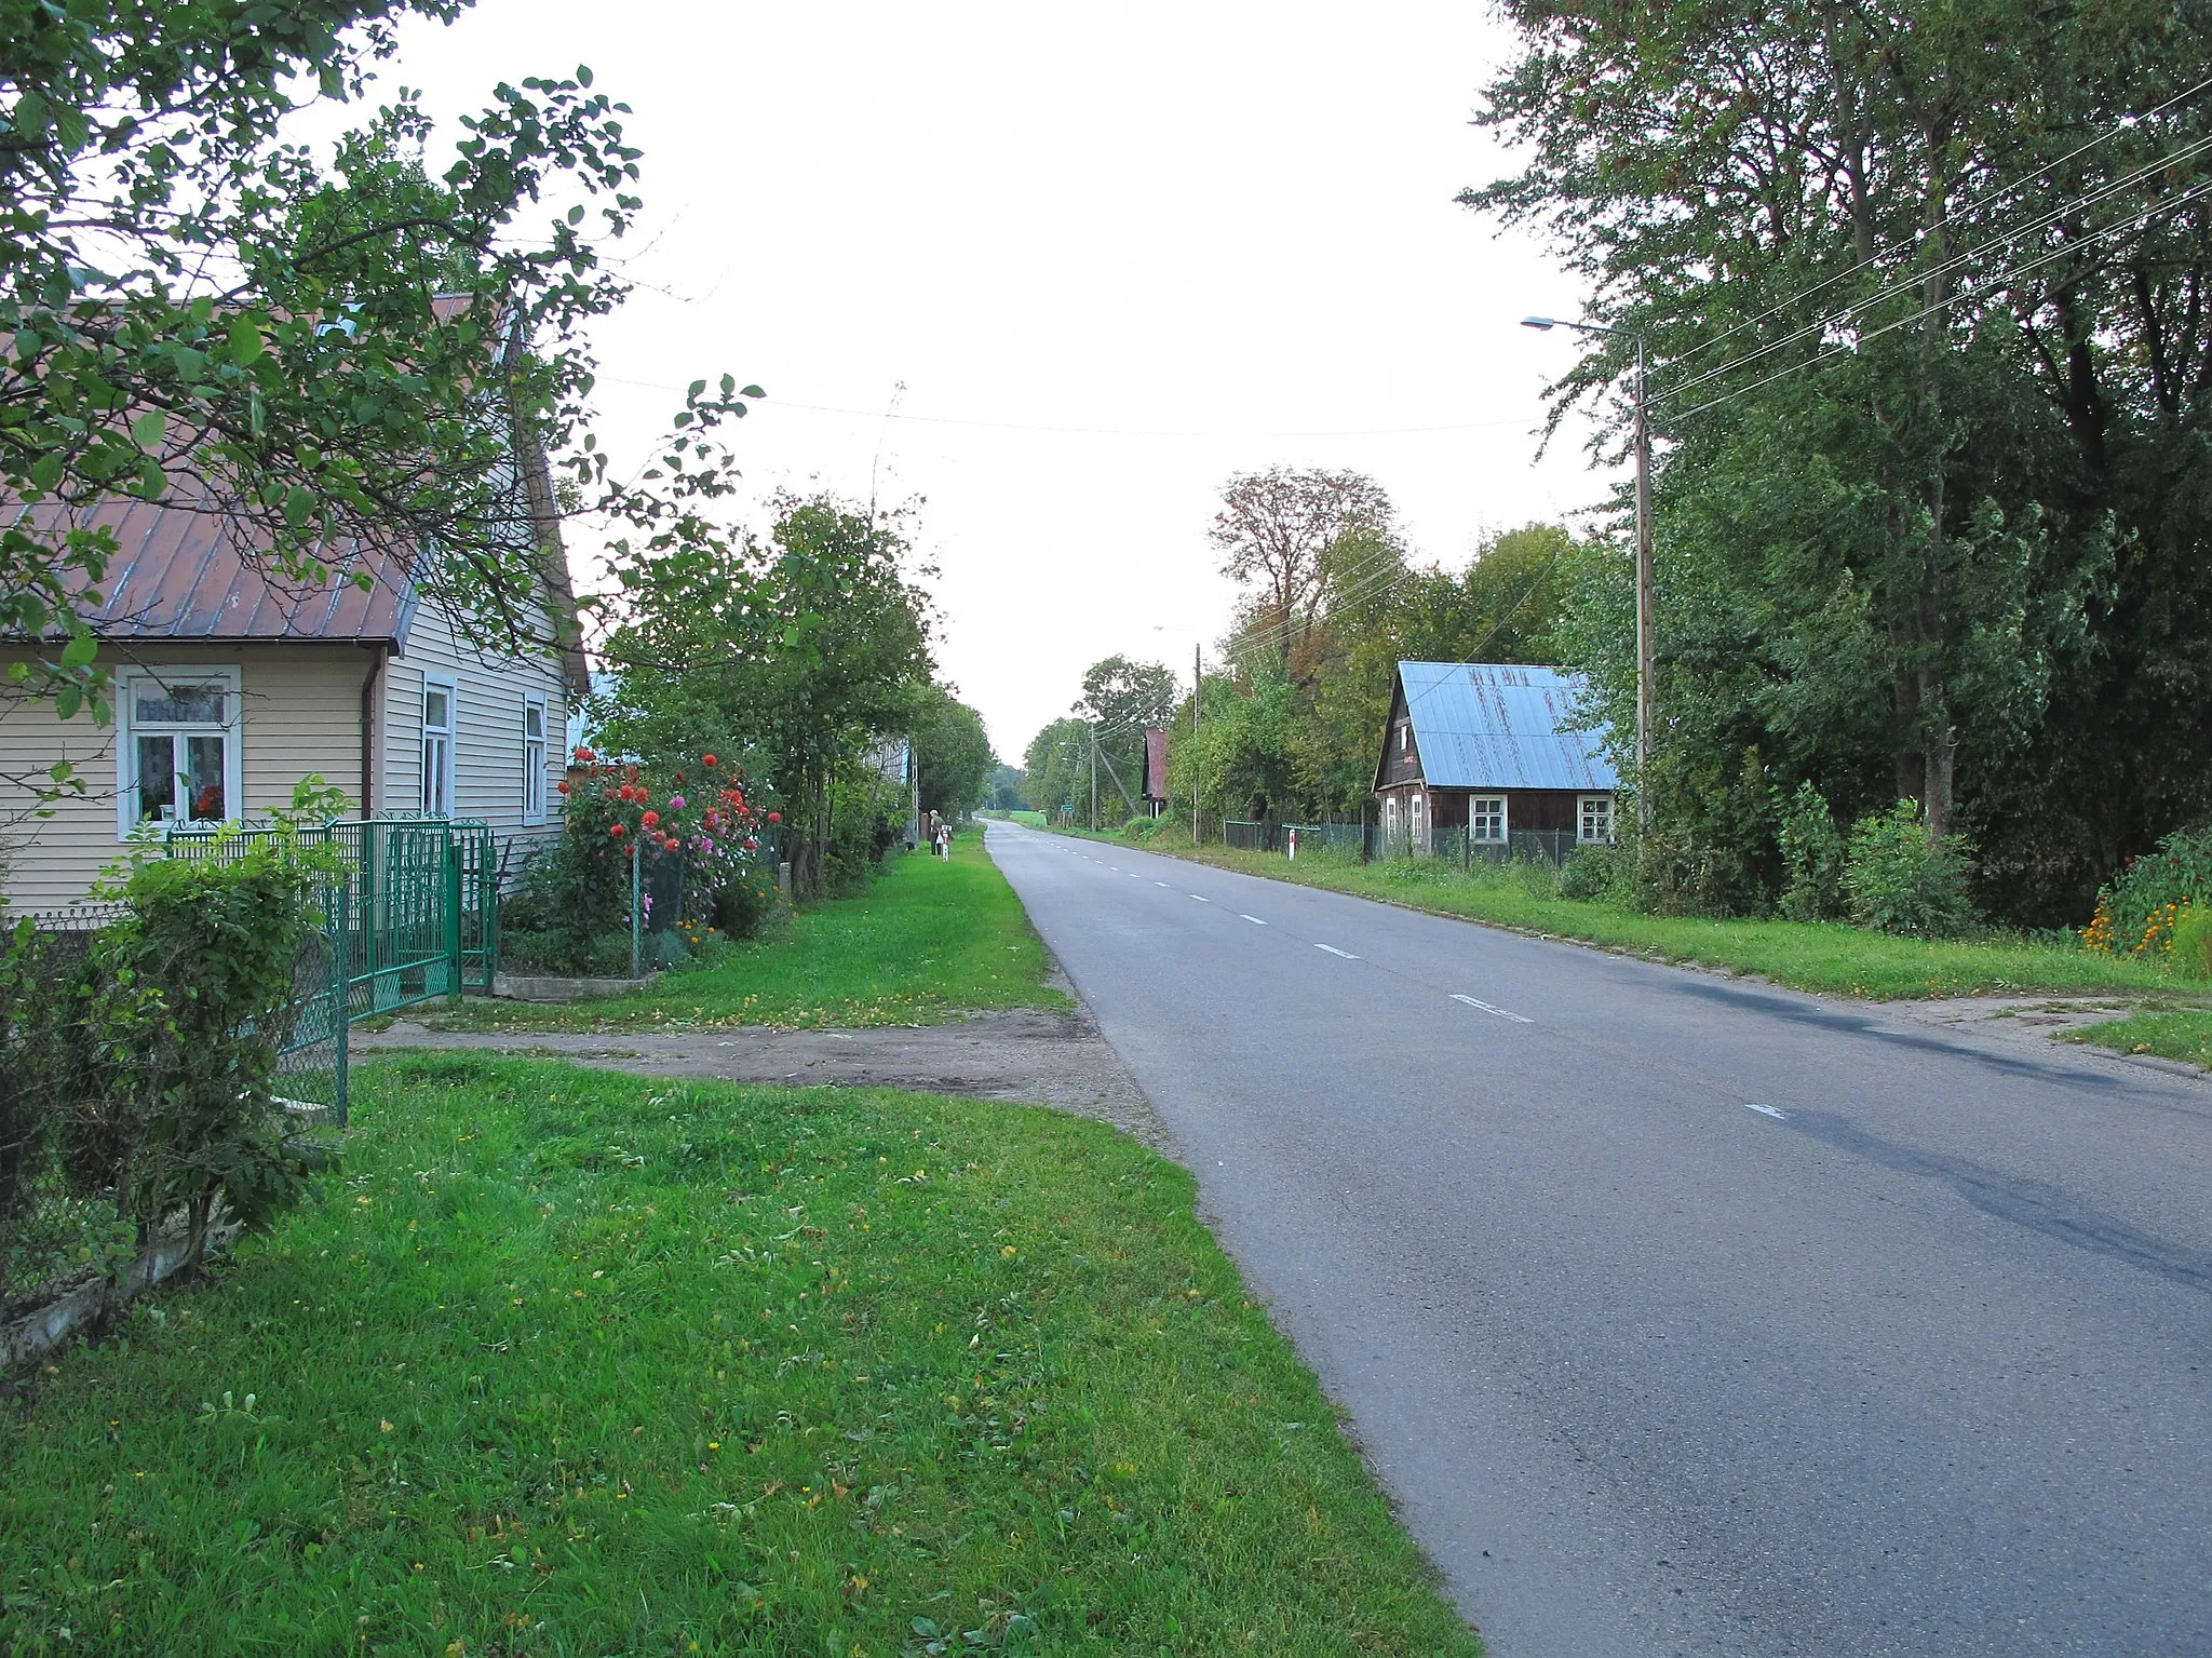
<path fill-rule="evenodd" d="M 385 743 L 378 811 L 422 809 L 422 679 L 456 681 L 453 816 L 489 822 L 500 844 L 513 844 L 509 867 L 526 847 L 560 833 L 562 732 L 568 699 L 549 659 L 487 657 L 453 634 L 425 604 L 407 634 L 407 654 L 385 668 Z M 546 703 L 546 822 L 522 822 L 522 699 Z"/>

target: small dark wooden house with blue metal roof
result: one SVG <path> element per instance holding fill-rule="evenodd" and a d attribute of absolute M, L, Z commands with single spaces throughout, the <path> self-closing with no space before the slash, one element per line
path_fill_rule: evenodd
<path fill-rule="evenodd" d="M 1557 853 L 1613 840 L 1619 780 L 1584 694 L 1564 668 L 1398 663 L 1376 760 L 1383 842 L 1431 853 L 1464 829 L 1471 849 Z"/>

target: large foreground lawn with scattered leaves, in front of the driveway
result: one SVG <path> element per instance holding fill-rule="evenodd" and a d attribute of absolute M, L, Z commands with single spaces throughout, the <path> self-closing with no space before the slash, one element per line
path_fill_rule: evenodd
<path fill-rule="evenodd" d="M 416 1054 L 0 1421 L 0 1651 L 1473 1654 L 1104 1125 Z"/>

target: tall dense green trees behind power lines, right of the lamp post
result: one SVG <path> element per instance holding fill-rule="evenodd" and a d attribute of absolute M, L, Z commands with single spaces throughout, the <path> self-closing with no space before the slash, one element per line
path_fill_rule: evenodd
<path fill-rule="evenodd" d="M 1464 199 L 1624 329 L 1562 407 L 1630 334 L 1657 365 L 1666 833 L 1741 842 L 1714 780 L 1756 752 L 1845 820 L 1924 802 L 2013 915 L 2084 911 L 2212 811 L 2212 9 L 1506 15 L 1520 168 Z M 1632 590 L 1573 595 L 1630 730 Z"/>

